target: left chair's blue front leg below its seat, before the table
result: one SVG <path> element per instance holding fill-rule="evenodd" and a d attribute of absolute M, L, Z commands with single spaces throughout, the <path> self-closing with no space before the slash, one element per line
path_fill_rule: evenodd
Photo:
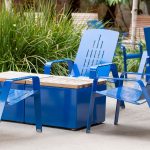
<path fill-rule="evenodd" d="M 34 95 L 34 110 L 36 120 L 36 131 L 42 132 L 42 117 L 41 117 L 41 96 L 40 92 Z"/>

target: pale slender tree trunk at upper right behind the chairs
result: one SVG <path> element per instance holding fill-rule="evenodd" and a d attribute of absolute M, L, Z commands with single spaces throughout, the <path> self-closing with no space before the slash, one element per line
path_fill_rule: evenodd
<path fill-rule="evenodd" d="M 136 19 L 138 11 L 138 0 L 133 0 L 132 4 L 132 32 L 131 32 L 131 41 L 134 43 L 136 40 Z"/>

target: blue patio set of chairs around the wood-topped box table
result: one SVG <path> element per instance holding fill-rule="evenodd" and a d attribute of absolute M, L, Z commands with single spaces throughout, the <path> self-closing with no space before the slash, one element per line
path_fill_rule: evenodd
<path fill-rule="evenodd" d="M 138 73 L 123 72 L 118 75 L 112 63 L 119 33 L 107 29 L 88 29 L 84 32 L 77 56 L 54 60 L 44 66 L 44 74 L 8 71 L 0 73 L 0 119 L 27 124 L 80 129 L 105 121 L 106 96 L 116 99 L 114 124 L 118 123 L 119 109 L 124 102 L 150 106 L 150 28 L 144 28 L 147 51 L 142 52 Z M 69 76 L 51 74 L 53 64 L 66 62 Z M 144 68 L 146 65 L 146 74 Z M 112 72 L 113 77 L 109 77 Z M 127 74 L 136 74 L 128 79 Z M 141 80 L 146 76 L 146 85 Z M 133 88 L 123 83 L 135 82 Z M 115 84 L 107 88 L 106 82 Z M 8 104 L 8 105 L 7 105 Z"/>

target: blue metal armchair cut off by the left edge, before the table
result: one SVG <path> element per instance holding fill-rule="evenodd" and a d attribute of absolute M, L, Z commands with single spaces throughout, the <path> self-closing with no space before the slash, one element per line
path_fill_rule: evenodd
<path fill-rule="evenodd" d="M 11 88 L 14 82 L 26 79 L 32 79 L 33 90 L 18 90 Z M 42 132 L 40 81 L 37 76 L 26 76 L 4 81 L 2 87 L 0 88 L 0 120 L 2 118 L 4 108 L 7 104 L 14 105 L 30 96 L 34 97 L 36 131 Z"/>

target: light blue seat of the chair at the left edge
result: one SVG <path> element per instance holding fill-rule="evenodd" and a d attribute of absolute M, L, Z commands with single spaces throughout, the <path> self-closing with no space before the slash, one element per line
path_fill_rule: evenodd
<path fill-rule="evenodd" d="M 9 105 L 13 105 L 15 103 L 18 103 L 19 101 L 24 100 L 25 98 L 33 95 L 37 91 L 34 90 L 16 90 L 16 89 L 11 89 L 9 91 L 9 95 L 7 98 L 7 103 Z"/>

